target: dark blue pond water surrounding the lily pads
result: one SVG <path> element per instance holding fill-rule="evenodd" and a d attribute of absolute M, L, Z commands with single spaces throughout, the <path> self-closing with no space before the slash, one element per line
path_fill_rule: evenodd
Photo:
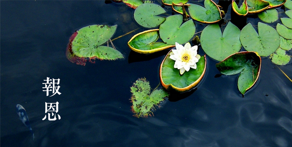
<path fill-rule="evenodd" d="M 146 77 L 156 87 L 166 52 L 141 56 L 128 48 L 128 40 L 143 31 L 131 8 L 103 0 L 0 5 L 1 147 L 292 147 L 292 82 L 269 58 L 262 59 L 259 81 L 244 98 L 237 76 L 215 78 L 217 62 L 207 58 L 197 90 L 165 100 L 154 117 L 136 118 L 130 86 Z M 140 29 L 113 41 L 124 60 L 69 62 L 69 37 L 92 24 L 118 24 L 113 38 Z M 199 32 L 203 27 L 196 25 Z M 292 77 L 291 63 L 280 68 Z M 61 95 L 46 97 L 46 77 L 60 79 Z M 56 101 L 61 119 L 42 120 L 45 102 Z M 17 104 L 27 111 L 34 141 L 18 119 Z"/>

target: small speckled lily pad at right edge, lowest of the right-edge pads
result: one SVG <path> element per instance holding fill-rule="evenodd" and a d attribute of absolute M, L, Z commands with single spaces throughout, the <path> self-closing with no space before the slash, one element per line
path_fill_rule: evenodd
<path fill-rule="evenodd" d="M 271 56 L 270 59 L 276 65 L 287 65 L 291 57 L 286 54 L 286 50 L 278 48 Z"/>

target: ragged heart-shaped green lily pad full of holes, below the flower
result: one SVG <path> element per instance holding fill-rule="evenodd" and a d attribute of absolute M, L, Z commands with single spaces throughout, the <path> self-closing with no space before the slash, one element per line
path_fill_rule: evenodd
<path fill-rule="evenodd" d="M 135 117 L 147 117 L 153 115 L 155 107 L 164 101 L 164 98 L 168 97 L 168 93 L 163 89 L 154 90 L 152 93 L 149 82 L 145 78 L 138 79 L 131 87 L 131 106 L 133 116 Z"/>

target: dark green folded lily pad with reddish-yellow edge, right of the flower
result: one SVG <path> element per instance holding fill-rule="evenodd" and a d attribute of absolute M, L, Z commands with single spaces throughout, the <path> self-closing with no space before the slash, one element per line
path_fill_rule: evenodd
<path fill-rule="evenodd" d="M 217 69 L 224 75 L 240 73 L 237 87 L 241 94 L 255 85 L 260 72 L 261 58 L 253 51 L 242 51 L 230 55 L 216 64 Z"/>

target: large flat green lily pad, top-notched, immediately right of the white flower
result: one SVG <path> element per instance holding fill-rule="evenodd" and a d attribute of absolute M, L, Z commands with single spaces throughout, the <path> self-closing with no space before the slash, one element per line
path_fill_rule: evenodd
<path fill-rule="evenodd" d="M 241 49 L 240 30 L 229 22 L 221 33 L 218 24 L 210 24 L 201 33 L 201 46 L 211 58 L 222 61 Z"/>

